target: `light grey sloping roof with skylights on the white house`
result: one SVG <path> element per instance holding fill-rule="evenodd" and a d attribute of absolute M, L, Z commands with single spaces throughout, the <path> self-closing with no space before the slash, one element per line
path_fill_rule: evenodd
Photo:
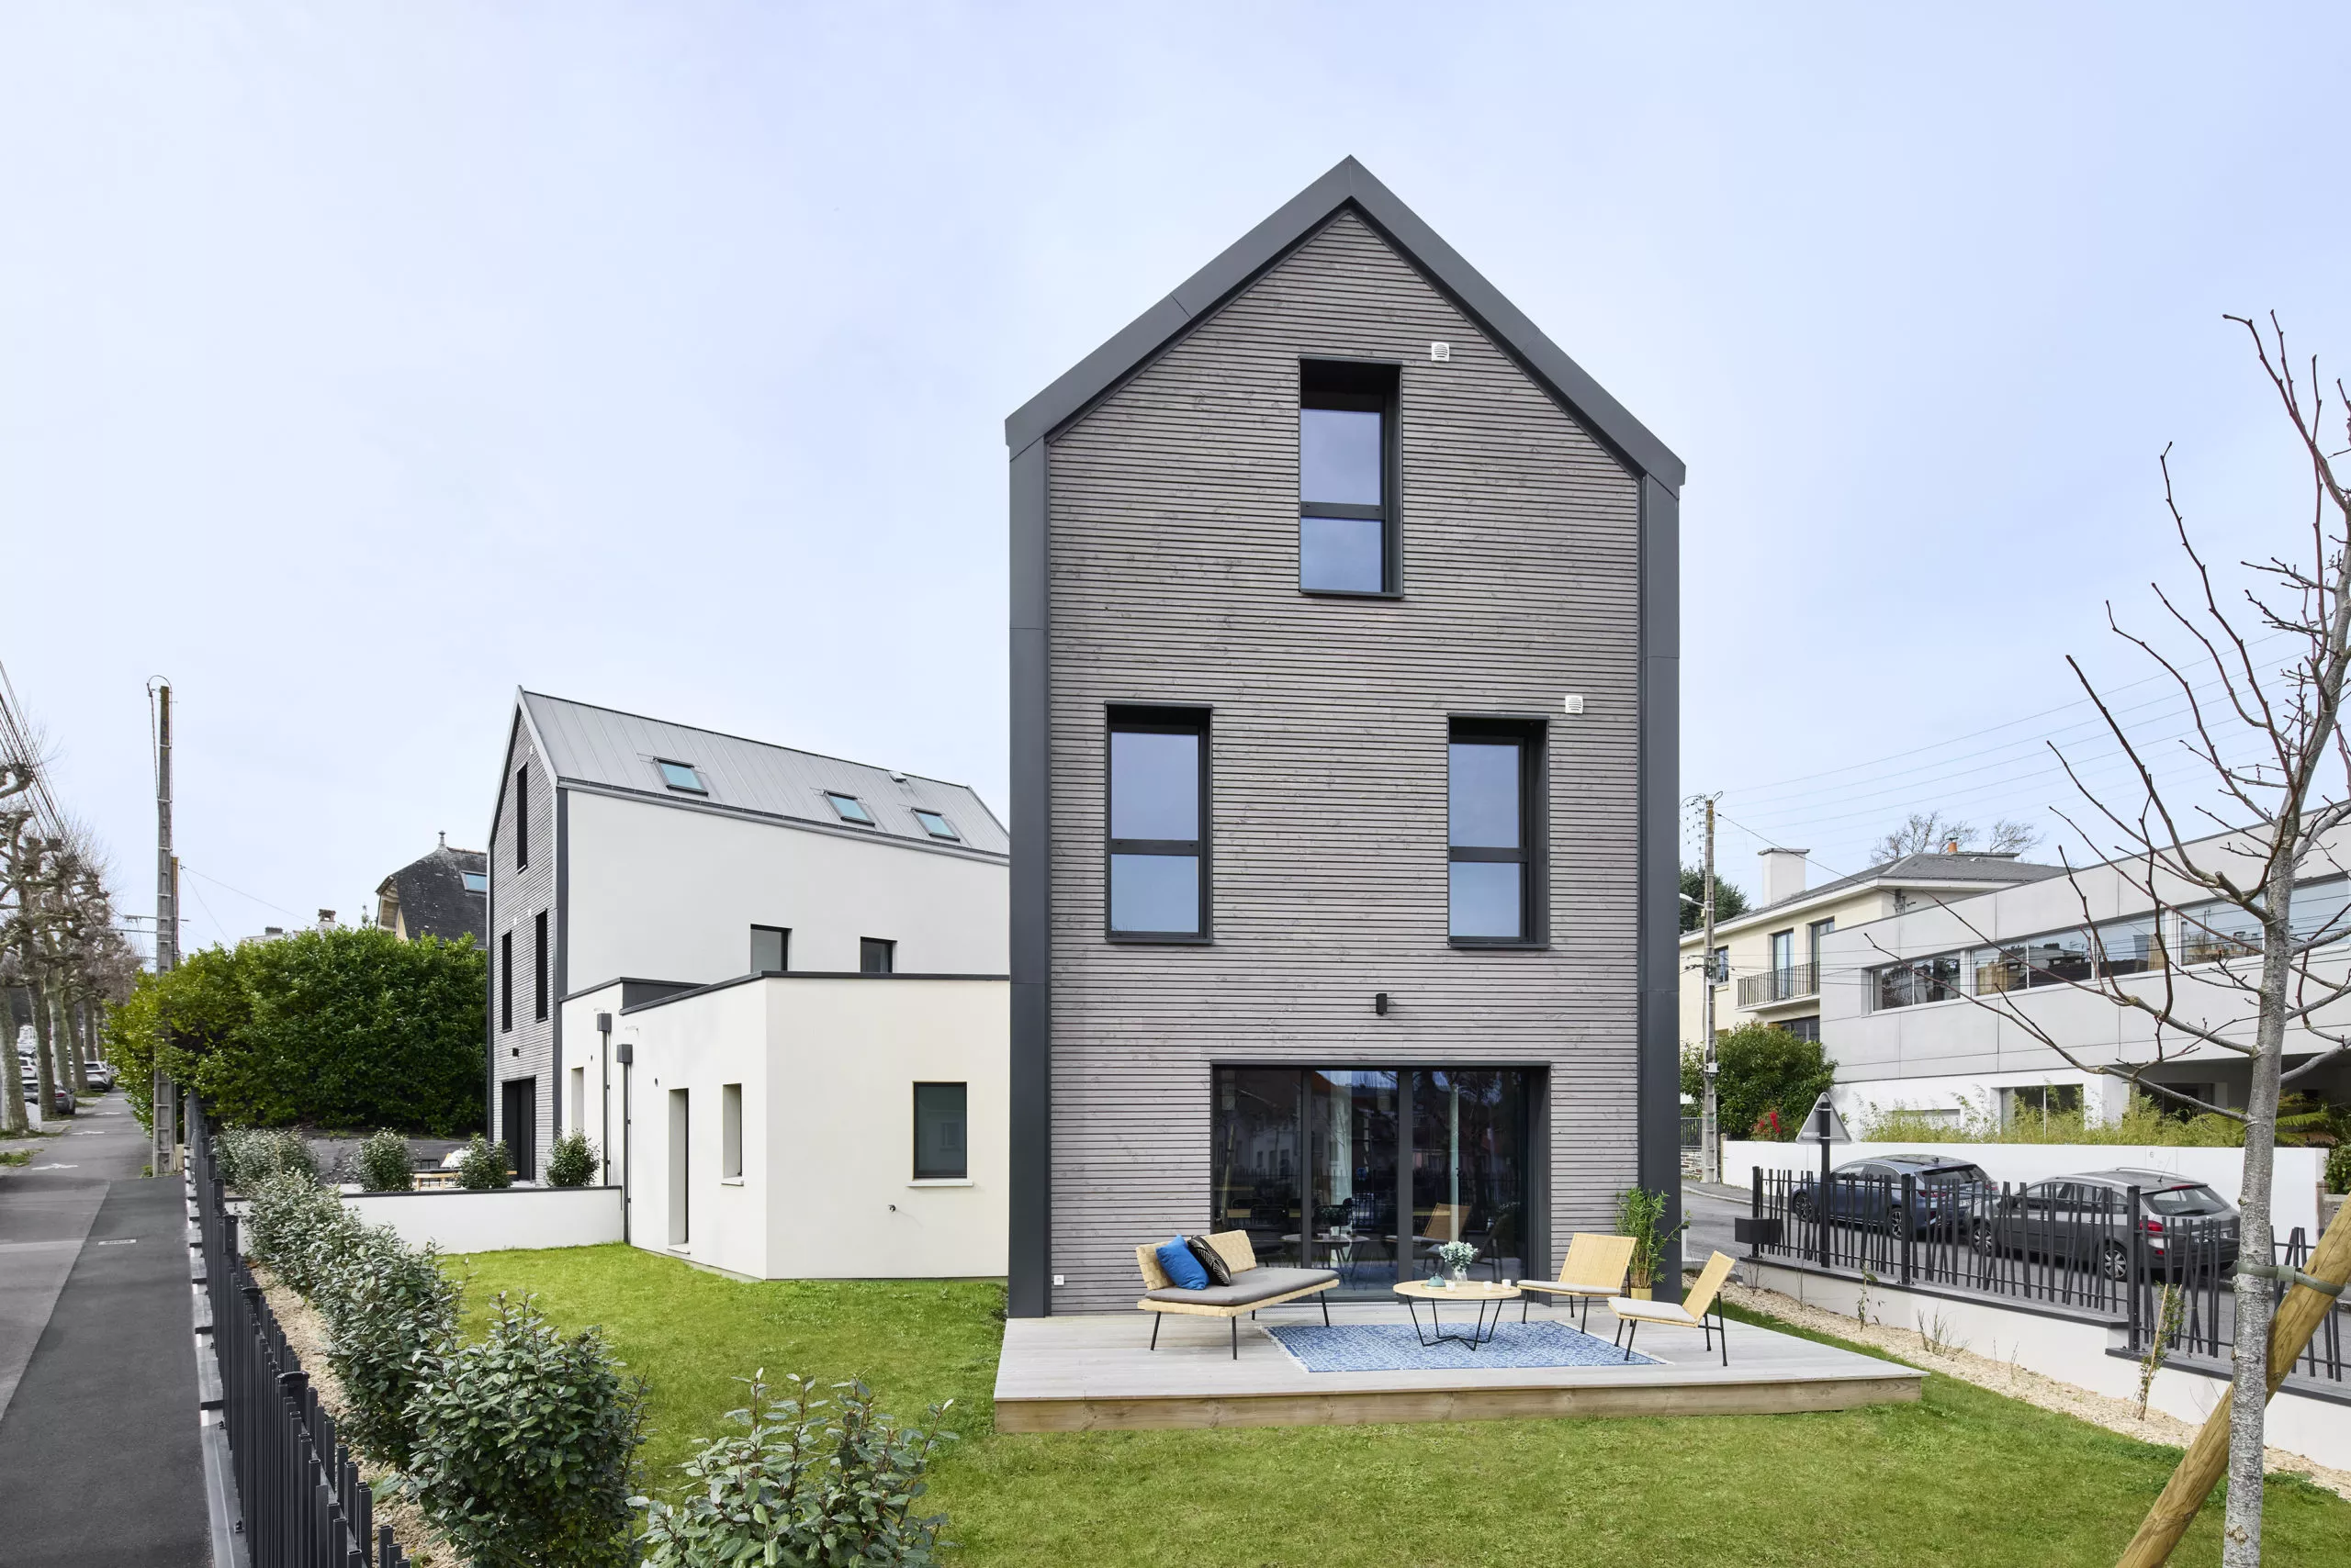
<path fill-rule="evenodd" d="M 517 691 L 529 733 L 548 771 L 564 783 L 595 785 L 675 806 L 717 806 L 734 813 L 790 818 L 842 832 L 877 832 L 929 849 L 1011 853 L 1004 823 L 969 785 L 797 752 L 715 729 L 670 724 L 614 708 L 595 708 L 538 691 Z M 656 762 L 684 762 L 708 795 L 670 790 Z M 872 811 L 875 827 L 846 827 L 825 804 L 825 790 L 853 795 Z M 915 811 L 936 811 L 962 842 L 933 839 Z"/>

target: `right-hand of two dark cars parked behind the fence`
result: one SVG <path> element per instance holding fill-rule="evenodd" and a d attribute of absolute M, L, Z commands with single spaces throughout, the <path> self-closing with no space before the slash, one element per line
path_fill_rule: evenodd
<path fill-rule="evenodd" d="M 2132 1187 L 2139 1208 L 2125 1213 Z M 1975 1244 L 1982 1253 L 2022 1253 L 2130 1279 L 2132 1227 L 2149 1274 L 2236 1267 L 2236 1204 L 2170 1171 L 2083 1171 L 2034 1182 L 1994 1206 Z"/>

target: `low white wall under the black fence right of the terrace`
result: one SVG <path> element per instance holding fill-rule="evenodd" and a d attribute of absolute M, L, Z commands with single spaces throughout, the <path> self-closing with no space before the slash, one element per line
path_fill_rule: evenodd
<path fill-rule="evenodd" d="M 1956 1349 L 1970 1349 L 1994 1361 L 2015 1361 L 2022 1368 L 2071 1382 L 2092 1394 L 2139 1399 L 2139 1363 L 2106 1354 L 2118 1342 L 2118 1333 L 2104 1324 L 2020 1312 L 2001 1307 L 1989 1298 L 1954 1300 L 1900 1286 L 1864 1288 L 1853 1279 L 1831 1279 L 1754 1258 L 1740 1260 L 1740 1279 L 1843 1316 L 1857 1316 L 1867 1295 L 1869 1316 L 1878 1324 L 1933 1333 Z M 1933 1359 L 1925 1366 L 1933 1366 Z M 2156 1387 L 2149 1392 L 2146 1403 L 2179 1420 L 2203 1422 L 2226 1394 L 2229 1385 L 2222 1378 L 2163 1368 L 2156 1373 Z M 2271 1448 L 2285 1448 L 2335 1469 L 2351 1469 L 2351 1403 L 2309 1399 L 2280 1389 L 2269 1401 L 2266 1436 Z"/>

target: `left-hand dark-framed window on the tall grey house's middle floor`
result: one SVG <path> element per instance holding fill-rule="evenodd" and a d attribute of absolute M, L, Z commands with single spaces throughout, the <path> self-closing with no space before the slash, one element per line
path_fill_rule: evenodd
<path fill-rule="evenodd" d="M 1208 715 L 1110 710 L 1110 936 L 1208 933 Z"/>

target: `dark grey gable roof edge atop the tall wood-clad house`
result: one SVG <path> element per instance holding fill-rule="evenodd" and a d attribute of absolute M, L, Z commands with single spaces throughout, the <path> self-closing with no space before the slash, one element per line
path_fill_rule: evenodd
<path fill-rule="evenodd" d="M 1004 421 L 1004 444 L 1018 454 L 1060 430 L 1347 209 L 1420 268 L 1634 473 L 1648 475 L 1667 489 L 1681 489 L 1681 458 L 1354 158 L 1342 158 L 1328 174 L 1284 202 L 1274 216 L 1180 282 L 1173 294 L 1063 371 L 1053 386 L 1020 404 Z"/>

